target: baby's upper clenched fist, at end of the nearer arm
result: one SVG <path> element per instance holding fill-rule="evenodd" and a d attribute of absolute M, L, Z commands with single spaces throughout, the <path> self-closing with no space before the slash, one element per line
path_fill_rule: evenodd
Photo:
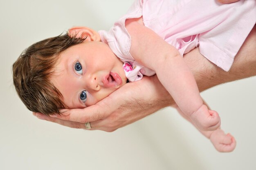
<path fill-rule="evenodd" d="M 191 114 L 191 120 L 200 130 L 204 131 L 212 131 L 220 127 L 219 114 L 216 111 L 208 110 L 206 105 L 202 105 Z"/>

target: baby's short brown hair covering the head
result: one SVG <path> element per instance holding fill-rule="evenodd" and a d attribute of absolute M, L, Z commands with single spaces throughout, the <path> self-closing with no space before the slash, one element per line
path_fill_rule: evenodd
<path fill-rule="evenodd" d="M 32 112 L 60 114 L 65 107 L 62 94 L 50 81 L 58 56 L 85 38 L 59 35 L 39 41 L 25 49 L 13 63 L 13 84 L 18 96 Z"/>

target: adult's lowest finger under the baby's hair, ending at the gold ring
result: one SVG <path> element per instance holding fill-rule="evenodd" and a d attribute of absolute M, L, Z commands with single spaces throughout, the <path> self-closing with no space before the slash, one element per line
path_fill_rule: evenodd
<path fill-rule="evenodd" d="M 61 119 L 58 119 L 58 118 L 50 117 L 50 116 L 47 116 L 47 115 L 41 114 L 41 113 L 34 113 L 33 112 L 33 114 L 38 119 L 42 119 L 42 120 L 58 123 L 60 125 L 67 126 L 67 127 L 70 127 L 70 128 L 85 129 L 85 124 L 84 123 L 65 121 L 65 120 L 61 120 Z"/>

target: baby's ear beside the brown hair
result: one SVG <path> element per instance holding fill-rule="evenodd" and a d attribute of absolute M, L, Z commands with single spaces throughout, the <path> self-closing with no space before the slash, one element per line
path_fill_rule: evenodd
<path fill-rule="evenodd" d="M 101 37 L 97 31 L 88 27 L 72 27 L 67 31 L 70 37 L 85 38 L 85 41 L 100 41 Z"/>

